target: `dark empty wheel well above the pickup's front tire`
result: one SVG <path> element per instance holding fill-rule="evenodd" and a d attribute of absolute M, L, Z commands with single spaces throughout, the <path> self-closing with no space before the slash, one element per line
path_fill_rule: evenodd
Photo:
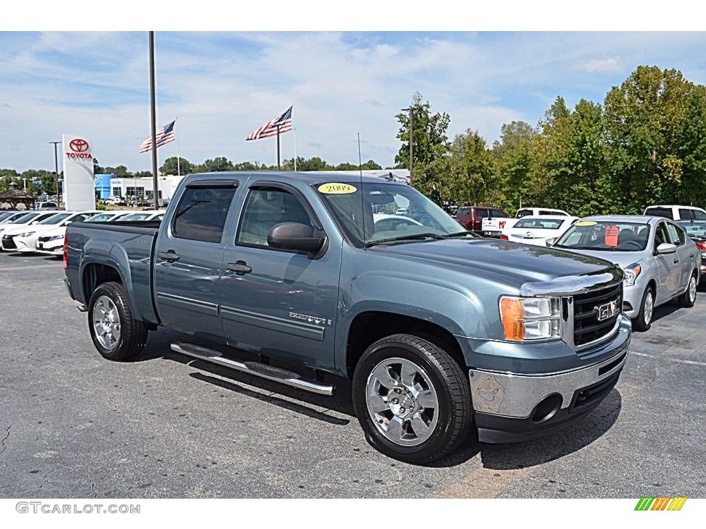
<path fill-rule="evenodd" d="M 453 334 L 443 327 L 414 317 L 390 314 L 388 312 L 364 312 L 353 320 L 348 331 L 346 370 L 353 377 L 360 357 L 369 346 L 393 334 L 412 334 L 430 341 L 446 351 L 460 367 L 465 369 L 463 352 Z"/>

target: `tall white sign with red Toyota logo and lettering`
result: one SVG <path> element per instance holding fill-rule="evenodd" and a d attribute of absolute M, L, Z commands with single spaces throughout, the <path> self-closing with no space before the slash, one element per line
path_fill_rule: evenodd
<path fill-rule="evenodd" d="M 90 141 L 64 134 L 64 203 L 67 210 L 95 209 L 95 180 Z"/>

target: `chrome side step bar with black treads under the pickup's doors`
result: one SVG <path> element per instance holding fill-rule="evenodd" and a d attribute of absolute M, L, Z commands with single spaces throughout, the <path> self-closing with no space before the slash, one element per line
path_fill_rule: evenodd
<path fill-rule="evenodd" d="M 333 395 L 333 386 L 303 379 L 297 373 L 280 369 L 280 367 L 259 362 L 239 362 L 238 360 L 232 360 L 231 358 L 222 356 L 218 351 L 197 346 L 193 343 L 176 342 L 172 343 L 171 347 L 172 351 L 193 356 L 193 358 L 198 358 L 198 360 L 205 360 L 206 362 L 224 365 L 225 367 L 232 367 L 232 369 L 249 373 L 249 375 L 266 378 L 274 382 L 280 382 L 281 384 L 287 384 L 287 386 L 304 389 L 304 391 L 311 391 L 311 393 L 328 396 Z"/>

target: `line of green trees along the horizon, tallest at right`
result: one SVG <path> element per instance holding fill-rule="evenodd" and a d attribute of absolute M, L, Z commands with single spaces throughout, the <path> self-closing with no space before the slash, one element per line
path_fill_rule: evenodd
<path fill-rule="evenodd" d="M 445 207 L 493 205 L 508 212 L 520 206 L 554 207 L 582 217 L 641 213 L 659 203 L 706 205 L 706 87 L 674 69 L 638 66 L 602 104 L 581 99 L 570 109 L 559 96 L 536 126 L 506 123 L 492 145 L 472 129 L 449 140 L 450 115 L 432 113 L 419 92 L 410 108 L 412 185 Z M 409 114 L 395 118 L 402 144 L 395 168 L 408 168 Z M 94 164 L 97 174 L 152 176 L 122 165 L 102 167 L 97 159 Z M 227 157 L 203 164 L 179 159 L 181 174 L 274 169 Z M 294 159 L 285 160 L 282 169 L 293 170 Z M 357 169 L 357 164 L 333 166 L 319 157 L 297 157 L 299 171 Z M 383 168 L 369 160 L 362 169 Z M 160 171 L 177 174 L 177 157 L 166 159 Z M 26 183 L 30 193 L 56 193 L 49 171 L 0 169 L 0 190 L 10 181 L 20 188 Z"/>

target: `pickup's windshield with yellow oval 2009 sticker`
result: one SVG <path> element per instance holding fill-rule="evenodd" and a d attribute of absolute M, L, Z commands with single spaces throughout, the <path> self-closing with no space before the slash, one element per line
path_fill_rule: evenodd
<path fill-rule="evenodd" d="M 395 183 L 314 186 L 351 241 L 374 243 L 473 236 L 419 191 Z"/>

